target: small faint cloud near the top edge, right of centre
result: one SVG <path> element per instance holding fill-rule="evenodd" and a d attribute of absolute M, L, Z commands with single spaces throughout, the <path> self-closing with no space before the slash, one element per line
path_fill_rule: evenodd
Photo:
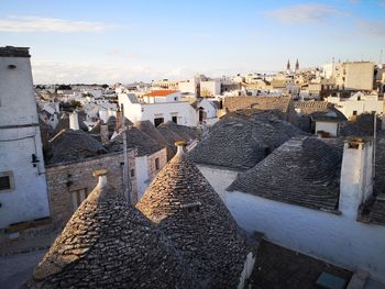
<path fill-rule="evenodd" d="M 266 11 L 267 16 L 285 23 L 319 22 L 341 12 L 324 4 L 298 4 L 287 8 Z"/>

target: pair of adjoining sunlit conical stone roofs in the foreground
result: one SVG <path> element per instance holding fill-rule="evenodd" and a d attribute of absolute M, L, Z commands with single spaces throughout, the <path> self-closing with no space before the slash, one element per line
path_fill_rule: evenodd
<path fill-rule="evenodd" d="M 136 208 L 97 170 L 26 287 L 237 287 L 252 243 L 179 145 Z"/>

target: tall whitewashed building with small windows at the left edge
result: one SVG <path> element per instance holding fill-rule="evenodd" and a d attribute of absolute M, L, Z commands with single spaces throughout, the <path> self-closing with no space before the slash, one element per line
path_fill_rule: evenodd
<path fill-rule="evenodd" d="M 0 229 L 50 216 L 29 48 L 0 47 Z"/>

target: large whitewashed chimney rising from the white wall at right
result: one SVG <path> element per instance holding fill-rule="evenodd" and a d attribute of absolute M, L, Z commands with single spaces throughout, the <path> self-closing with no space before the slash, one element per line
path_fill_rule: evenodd
<path fill-rule="evenodd" d="M 358 216 L 373 192 L 373 137 L 349 137 L 343 146 L 339 210 Z"/>

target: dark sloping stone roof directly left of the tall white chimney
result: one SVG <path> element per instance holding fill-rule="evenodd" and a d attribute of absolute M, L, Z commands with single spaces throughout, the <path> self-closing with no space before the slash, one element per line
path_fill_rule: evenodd
<path fill-rule="evenodd" d="M 240 174 L 229 190 L 333 212 L 338 209 L 342 147 L 339 140 L 293 137 Z"/>

